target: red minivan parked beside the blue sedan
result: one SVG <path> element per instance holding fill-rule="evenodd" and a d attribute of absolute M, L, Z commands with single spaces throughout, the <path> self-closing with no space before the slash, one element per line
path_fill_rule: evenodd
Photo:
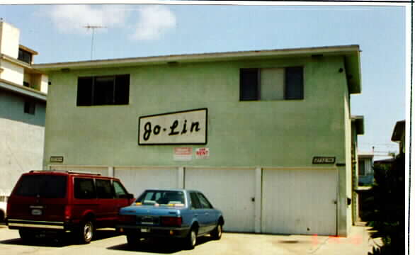
<path fill-rule="evenodd" d="M 66 233 L 91 242 L 95 229 L 115 227 L 118 210 L 134 202 L 119 179 L 75 171 L 30 171 L 7 204 L 6 223 L 21 239 Z"/>

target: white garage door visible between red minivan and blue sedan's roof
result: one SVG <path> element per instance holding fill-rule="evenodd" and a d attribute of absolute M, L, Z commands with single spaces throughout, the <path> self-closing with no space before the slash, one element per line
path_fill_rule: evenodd
<path fill-rule="evenodd" d="M 148 188 L 178 188 L 176 168 L 115 168 L 114 176 L 137 198 Z"/>

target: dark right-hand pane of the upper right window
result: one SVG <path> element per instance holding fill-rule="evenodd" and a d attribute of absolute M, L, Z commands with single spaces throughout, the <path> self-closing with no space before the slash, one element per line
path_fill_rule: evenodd
<path fill-rule="evenodd" d="M 304 80 L 302 67 L 285 68 L 285 99 L 303 99 Z"/>

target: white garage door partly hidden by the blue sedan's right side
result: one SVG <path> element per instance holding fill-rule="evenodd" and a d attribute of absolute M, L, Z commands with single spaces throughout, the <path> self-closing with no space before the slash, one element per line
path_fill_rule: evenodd
<path fill-rule="evenodd" d="M 222 210 L 224 230 L 254 232 L 255 169 L 188 169 L 185 187 L 205 194 Z"/>

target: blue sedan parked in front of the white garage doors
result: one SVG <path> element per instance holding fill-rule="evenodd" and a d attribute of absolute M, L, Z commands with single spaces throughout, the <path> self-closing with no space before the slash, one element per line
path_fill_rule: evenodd
<path fill-rule="evenodd" d="M 200 191 L 183 189 L 146 190 L 130 206 L 120 209 L 118 228 L 135 246 L 142 237 L 174 237 L 193 249 L 197 237 L 222 237 L 222 212 Z"/>

